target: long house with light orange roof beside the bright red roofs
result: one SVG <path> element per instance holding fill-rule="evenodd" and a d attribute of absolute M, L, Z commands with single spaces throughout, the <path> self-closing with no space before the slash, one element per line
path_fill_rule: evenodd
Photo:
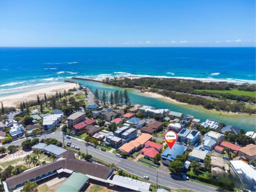
<path fill-rule="evenodd" d="M 153 136 L 150 134 L 142 133 L 135 140 L 124 143 L 121 147 L 118 148 L 118 150 L 127 154 L 131 154 L 132 152 L 137 151 L 139 148 L 142 148 L 148 140 L 152 139 L 152 137 Z"/>

